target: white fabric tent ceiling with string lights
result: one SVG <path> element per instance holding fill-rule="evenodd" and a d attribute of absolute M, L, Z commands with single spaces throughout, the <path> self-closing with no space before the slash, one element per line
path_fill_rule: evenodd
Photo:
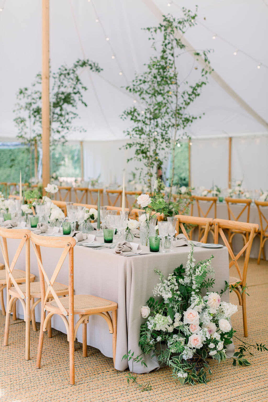
<path fill-rule="evenodd" d="M 214 49 L 210 59 L 215 71 L 265 121 L 268 120 L 266 1 L 199 1 L 198 25 L 184 35 L 195 49 Z M 81 120 L 78 123 L 86 132 L 79 134 L 80 137 L 77 133 L 70 134 L 69 139 L 107 141 L 124 138 L 123 130 L 129 123 L 123 122 L 119 115 L 133 105 L 133 98 L 121 87 L 132 80 L 135 71 L 143 71 L 143 64 L 152 52 L 147 33 L 141 28 L 159 23 L 152 12 L 154 6 L 163 14 L 170 12 L 180 16 L 181 6 L 194 10 L 195 4 L 193 0 L 174 0 L 170 6 L 168 0 L 50 1 L 52 70 L 65 62 L 71 65 L 84 56 L 103 68 L 99 75 L 91 74 L 91 78 L 88 70 L 81 74 L 88 87 L 85 94 L 88 107 L 79 108 Z M 28 86 L 41 71 L 41 0 L 0 0 L 0 7 L 3 8 L 0 12 L 1 140 L 14 139 L 17 134 L 12 112 L 16 91 Z M 96 15 L 102 25 L 96 23 Z M 213 39 L 213 33 L 219 36 Z M 236 49 L 240 51 L 234 56 Z M 115 59 L 111 57 L 113 51 Z M 182 76 L 188 74 L 192 62 L 188 54 L 180 58 Z M 262 63 L 260 69 L 257 68 L 259 63 Z M 119 75 L 120 70 L 122 75 Z M 198 74 L 198 70 L 193 74 Z M 212 77 L 192 110 L 196 114 L 205 112 L 203 119 L 190 127 L 192 137 L 252 135 L 268 131 Z"/>

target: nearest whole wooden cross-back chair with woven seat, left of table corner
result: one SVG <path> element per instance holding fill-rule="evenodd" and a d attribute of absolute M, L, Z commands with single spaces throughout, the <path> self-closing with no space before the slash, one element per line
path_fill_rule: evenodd
<path fill-rule="evenodd" d="M 87 336 L 86 336 L 86 324 L 88 317 L 91 315 L 98 315 L 104 318 L 108 324 L 110 333 L 113 334 L 113 359 L 115 363 L 116 352 L 116 330 L 117 330 L 117 303 L 114 301 L 102 299 L 100 297 L 91 295 L 74 295 L 74 246 L 76 241 L 72 237 L 62 238 L 49 238 L 45 236 L 39 236 L 31 233 L 31 242 L 37 257 L 39 276 L 41 280 L 41 324 L 40 334 L 37 352 L 36 367 L 40 368 L 41 356 L 43 349 L 44 331 L 47 330 L 48 324 L 51 321 L 51 317 L 54 314 L 58 314 L 64 324 L 67 331 L 69 350 L 70 350 L 70 384 L 74 384 L 74 340 L 80 324 L 83 323 L 83 357 L 87 357 Z M 63 248 L 59 261 L 57 262 L 55 270 L 49 279 L 47 272 L 42 263 L 41 247 L 53 247 Z M 65 258 L 68 256 L 68 271 L 69 271 L 69 296 L 59 298 L 56 292 L 53 290 L 53 284 L 55 279 L 64 263 Z M 45 283 L 47 284 L 47 290 L 45 289 Z M 53 301 L 47 301 L 49 297 L 49 289 L 53 295 Z M 47 316 L 45 311 L 48 312 Z M 112 311 L 112 318 L 109 311 Z M 74 314 L 79 315 L 79 320 L 74 324 Z M 68 320 L 67 320 L 68 317 Z"/>

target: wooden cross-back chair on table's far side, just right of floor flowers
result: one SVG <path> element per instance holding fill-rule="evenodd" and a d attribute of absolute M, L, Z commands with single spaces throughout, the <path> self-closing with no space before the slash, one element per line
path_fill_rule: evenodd
<path fill-rule="evenodd" d="M 229 278 L 230 287 L 233 286 L 233 290 L 238 296 L 239 306 L 242 306 L 243 309 L 243 327 L 244 327 L 244 336 L 248 336 L 248 325 L 247 325 L 247 311 L 245 305 L 245 286 L 247 284 L 247 272 L 248 272 L 248 261 L 250 259 L 250 250 L 252 247 L 252 242 L 256 234 L 258 233 L 259 225 L 257 224 L 249 224 L 247 222 L 234 222 L 225 219 L 214 219 L 213 225 L 215 228 L 215 236 L 214 243 L 219 243 L 219 235 L 221 236 L 223 243 L 228 249 L 229 256 L 231 257 L 231 261 L 229 263 L 229 269 L 235 265 L 237 270 L 238 278 L 231 277 Z M 241 248 L 238 254 L 235 256 L 233 250 L 223 232 L 223 230 L 242 230 L 243 232 L 247 232 L 249 234 L 248 241 Z M 243 265 L 243 271 L 240 270 L 239 265 L 237 263 L 239 257 L 245 252 L 245 261 Z"/>

